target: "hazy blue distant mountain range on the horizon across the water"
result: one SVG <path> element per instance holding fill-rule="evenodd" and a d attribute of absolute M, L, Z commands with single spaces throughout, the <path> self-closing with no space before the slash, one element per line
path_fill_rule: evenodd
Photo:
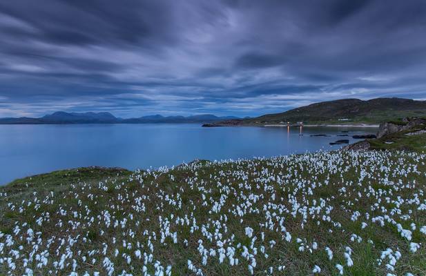
<path fill-rule="evenodd" d="M 138 118 L 122 119 L 115 117 L 110 112 L 55 112 L 38 118 L 0 118 L 0 124 L 159 124 L 159 123 L 209 123 L 238 117 L 215 115 L 193 115 L 193 116 L 167 116 L 152 115 Z"/>

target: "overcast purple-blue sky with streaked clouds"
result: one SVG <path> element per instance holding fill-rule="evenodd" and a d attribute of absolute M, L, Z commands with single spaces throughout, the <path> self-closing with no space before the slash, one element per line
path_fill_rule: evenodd
<path fill-rule="evenodd" d="M 426 1 L 0 1 L 0 117 L 426 99 Z"/>

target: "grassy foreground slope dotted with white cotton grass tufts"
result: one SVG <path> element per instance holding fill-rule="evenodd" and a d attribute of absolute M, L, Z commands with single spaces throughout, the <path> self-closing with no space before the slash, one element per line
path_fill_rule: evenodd
<path fill-rule="evenodd" d="M 426 210 L 419 209 L 426 202 L 425 161 L 421 152 L 318 152 L 201 161 L 151 172 L 79 168 L 19 179 L 0 188 L 0 243 L 5 244 L 6 237 L 14 241 L 0 249 L 0 258 L 12 257 L 11 250 L 20 253 L 12 257 L 14 270 L 6 262 L 0 264 L 0 275 L 22 275 L 24 259 L 30 259 L 28 267 L 35 275 L 70 275 L 73 259 L 79 275 L 106 275 L 106 257 L 114 264 L 113 275 L 123 270 L 144 275 L 144 258 L 136 257 L 137 248 L 153 255 L 146 264 L 151 275 L 155 262 L 164 270 L 171 266 L 171 275 L 195 275 L 188 259 L 204 275 L 249 275 L 251 258 L 256 260 L 255 275 L 311 275 L 315 265 L 321 275 L 338 275 L 336 264 L 344 266 L 344 275 L 386 275 L 391 272 L 385 267 L 388 260 L 379 265 L 377 259 L 387 248 L 402 255 L 396 275 L 425 275 L 426 235 L 420 227 L 426 226 Z M 360 216 L 351 219 L 356 212 Z M 416 225 L 411 242 L 422 243 L 416 253 L 409 251 L 409 241 L 394 224 L 371 221 L 385 215 L 405 229 Z M 290 242 L 280 221 L 291 233 Z M 362 229 L 363 221 L 368 225 Z M 257 239 L 246 235 L 246 227 L 253 228 Z M 30 240 L 29 228 L 35 233 Z M 353 234 L 362 241 L 351 242 Z M 208 252 L 216 253 L 206 265 L 197 249 L 200 240 Z M 225 250 L 235 250 L 238 266 L 231 266 L 228 257 L 219 262 L 219 241 Z M 311 253 L 314 242 L 318 249 Z M 243 246 L 251 254 L 249 260 L 242 256 Z M 331 260 L 326 246 L 333 250 Z M 344 257 L 347 246 L 353 252 L 350 267 Z M 30 257 L 41 252 L 49 253 L 46 265 Z M 54 265 L 61 256 L 68 256 L 64 268 Z M 284 270 L 279 271 L 280 266 Z"/>

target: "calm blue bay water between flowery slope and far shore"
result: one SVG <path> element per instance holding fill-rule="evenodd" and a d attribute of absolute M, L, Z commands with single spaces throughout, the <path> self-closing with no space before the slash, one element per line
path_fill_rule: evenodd
<path fill-rule="evenodd" d="M 375 128 L 238 127 L 200 124 L 0 125 L 0 185 L 13 179 L 82 166 L 135 170 L 193 159 L 271 157 L 332 150 L 329 142 Z M 327 134 L 331 137 L 310 137 Z"/>

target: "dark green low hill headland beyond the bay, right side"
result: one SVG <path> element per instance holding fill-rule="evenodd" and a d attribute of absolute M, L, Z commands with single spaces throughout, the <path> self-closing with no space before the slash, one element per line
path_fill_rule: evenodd
<path fill-rule="evenodd" d="M 426 101 L 401 98 L 338 99 L 248 119 L 226 119 L 204 126 L 377 125 L 405 117 L 426 117 Z"/>

